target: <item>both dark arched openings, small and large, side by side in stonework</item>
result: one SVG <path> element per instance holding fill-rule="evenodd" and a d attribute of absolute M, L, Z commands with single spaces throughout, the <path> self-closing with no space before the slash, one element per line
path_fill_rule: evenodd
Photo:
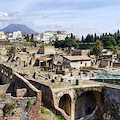
<path fill-rule="evenodd" d="M 93 113 L 96 106 L 100 106 L 102 95 L 97 91 L 88 91 L 78 96 L 75 100 L 75 120 Z M 59 101 L 59 108 L 63 109 L 68 116 L 71 116 L 72 99 L 69 94 L 64 94 Z"/>

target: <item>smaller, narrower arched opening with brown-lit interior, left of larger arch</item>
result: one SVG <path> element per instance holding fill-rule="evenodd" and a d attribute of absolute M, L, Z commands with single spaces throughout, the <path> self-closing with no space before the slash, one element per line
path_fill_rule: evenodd
<path fill-rule="evenodd" d="M 69 94 L 64 94 L 59 101 L 59 108 L 63 109 L 67 115 L 71 116 L 71 97 Z"/>

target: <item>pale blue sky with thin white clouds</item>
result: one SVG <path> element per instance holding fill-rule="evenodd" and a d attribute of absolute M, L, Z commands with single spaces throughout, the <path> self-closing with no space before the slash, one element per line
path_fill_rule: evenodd
<path fill-rule="evenodd" d="M 0 29 L 24 24 L 39 33 L 64 30 L 79 37 L 120 29 L 120 0 L 0 1 Z"/>

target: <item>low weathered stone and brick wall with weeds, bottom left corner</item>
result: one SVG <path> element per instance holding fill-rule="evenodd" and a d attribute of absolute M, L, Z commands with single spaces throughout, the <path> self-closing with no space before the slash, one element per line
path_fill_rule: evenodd
<path fill-rule="evenodd" d="M 28 100 L 31 101 L 31 106 L 30 109 L 27 109 L 27 102 Z M 11 94 L 6 94 L 5 98 L 0 100 L 0 120 L 3 119 L 8 119 L 8 120 L 21 120 L 21 119 L 26 119 L 28 120 L 29 118 L 33 117 L 35 112 L 34 112 L 34 108 L 36 109 L 36 112 L 39 114 L 36 114 L 36 120 L 40 119 L 40 102 L 37 101 L 36 104 L 34 104 L 34 102 L 37 100 L 36 97 L 12 97 Z M 13 109 L 12 111 L 14 111 L 14 115 L 10 113 L 7 113 L 5 117 L 3 117 L 3 111 L 2 108 L 5 106 L 5 104 L 7 103 L 15 103 L 15 109 Z M 30 111 L 33 111 L 33 113 L 31 113 Z M 33 120 L 33 119 L 31 119 Z"/>

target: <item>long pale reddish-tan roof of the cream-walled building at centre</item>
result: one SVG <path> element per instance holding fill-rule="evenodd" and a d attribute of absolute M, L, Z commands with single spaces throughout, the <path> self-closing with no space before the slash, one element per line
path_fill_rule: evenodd
<path fill-rule="evenodd" d="M 91 58 L 87 56 L 64 56 L 64 58 L 70 61 L 91 60 Z"/>

